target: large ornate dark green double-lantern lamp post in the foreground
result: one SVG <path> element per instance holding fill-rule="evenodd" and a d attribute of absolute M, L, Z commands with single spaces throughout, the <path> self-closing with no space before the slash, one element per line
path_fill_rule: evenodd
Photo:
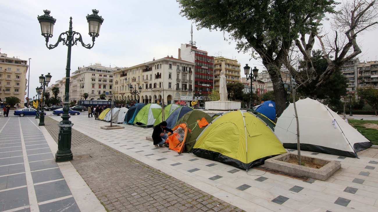
<path fill-rule="evenodd" d="M 41 32 L 43 37 L 46 38 L 46 47 L 48 49 L 53 49 L 63 41 L 63 45 L 68 46 L 67 51 L 67 66 L 66 66 L 66 84 L 65 84 L 65 97 L 64 97 L 64 107 L 62 121 L 58 124 L 60 127 L 59 138 L 58 138 L 58 151 L 55 154 L 56 162 L 70 161 L 73 158 L 71 152 L 71 130 L 72 123 L 69 120 L 70 115 L 68 115 L 69 105 L 68 97 L 70 92 L 70 71 L 71 71 L 71 46 L 77 45 L 80 42 L 81 45 L 87 49 L 91 49 L 95 45 L 95 39 L 99 36 L 99 31 L 104 18 L 98 15 L 98 10 L 93 9 L 93 14 L 87 15 L 87 21 L 89 26 L 89 35 L 92 37 L 92 45 L 84 44 L 81 34 L 79 32 L 72 31 L 72 17 L 70 17 L 70 26 L 68 31 L 62 32 L 59 35 L 58 41 L 54 45 L 48 45 L 49 38 L 53 37 L 53 29 L 56 19 L 50 16 L 50 11 L 44 10 L 45 14 L 38 16 L 38 21 L 41 25 Z M 63 36 L 66 36 L 64 38 Z"/>

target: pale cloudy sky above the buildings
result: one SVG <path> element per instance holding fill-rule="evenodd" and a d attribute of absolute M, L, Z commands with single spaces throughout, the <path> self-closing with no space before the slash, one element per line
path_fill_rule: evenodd
<path fill-rule="evenodd" d="M 51 73 L 52 81 L 65 76 L 67 46 L 59 44 L 55 49 L 47 49 L 45 38 L 41 35 L 37 15 L 43 10 L 51 11 L 56 18 L 54 36 L 49 44 L 55 44 L 58 35 L 68 31 L 70 17 L 73 18 L 73 30 L 80 32 L 84 43 L 91 43 L 88 35 L 88 23 L 85 18 L 92 14 L 92 9 L 99 10 L 105 20 L 101 26 L 100 36 L 95 46 L 86 49 L 81 45 L 72 47 L 71 73 L 78 66 L 101 63 L 110 67 L 130 67 L 152 58 L 173 55 L 181 43 L 191 40 L 192 21 L 181 17 L 180 8 L 175 0 L 13 0 L 1 1 L 2 21 L 0 33 L 0 52 L 8 57 L 18 57 L 30 61 L 30 94 L 36 94 L 39 86 L 38 77 Z M 201 29 L 193 26 L 193 40 L 197 47 L 212 56 L 236 58 L 242 66 L 263 66 L 259 60 L 251 59 L 250 55 L 238 53 L 235 43 L 225 41 L 223 32 Z M 360 60 L 375 60 L 378 55 L 376 32 L 371 31 L 360 38 L 363 50 Z"/>

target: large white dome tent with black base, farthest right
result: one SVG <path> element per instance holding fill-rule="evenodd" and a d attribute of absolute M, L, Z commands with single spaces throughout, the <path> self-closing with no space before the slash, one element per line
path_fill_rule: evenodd
<path fill-rule="evenodd" d="M 338 114 L 316 100 L 298 100 L 296 108 L 301 150 L 357 157 L 356 152 L 372 145 Z M 285 148 L 297 149 L 297 124 L 293 103 L 277 119 L 274 133 Z"/>

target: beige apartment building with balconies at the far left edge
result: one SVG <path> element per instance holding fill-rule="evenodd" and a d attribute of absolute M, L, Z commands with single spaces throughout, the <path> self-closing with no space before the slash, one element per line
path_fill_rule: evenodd
<path fill-rule="evenodd" d="M 0 53 L 0 98 L 17 97 L 25 103 L 28 61 Z M 30 97 L 33 98 L 33 97 Z"/>

